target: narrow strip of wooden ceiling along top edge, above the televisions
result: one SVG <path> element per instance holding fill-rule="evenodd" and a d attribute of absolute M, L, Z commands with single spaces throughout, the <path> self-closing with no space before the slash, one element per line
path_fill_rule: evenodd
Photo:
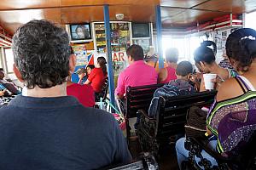
<path fill-rule="evenodd" d="M 159 0 L 61 0 L 61 6 L 71 5 L 156 5 Z"/>

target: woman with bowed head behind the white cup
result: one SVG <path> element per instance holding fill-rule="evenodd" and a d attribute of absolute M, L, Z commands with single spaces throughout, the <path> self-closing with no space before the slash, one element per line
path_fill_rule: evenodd
<path fill-rule="evenodd" d="M 194 59 L 195 65 L 201 73 L 214 73 L 218 75 L 216 78 L 216 89 L 218 89 L 221 82 L 224 82 L 224 80 L 230 77 L 236 77 L 237 75 L 236 71 L 218 66 L 212 48 L 208 48 L 205 44 L 202 44 L 201 47 L 195 49 Z M 203 77 L 201 77 L 200 91 L 206 91 Z"/>

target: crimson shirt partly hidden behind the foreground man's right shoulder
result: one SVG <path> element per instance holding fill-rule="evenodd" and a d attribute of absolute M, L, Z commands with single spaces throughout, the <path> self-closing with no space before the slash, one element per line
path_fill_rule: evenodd
<path fill-rule="evenodd" d="M 85 107 L 93 107 L 95 105 L 94 91 L 89 84 L 73 83 L 67 86 L 67 95 L 79 99 L 79 102 Z"/>

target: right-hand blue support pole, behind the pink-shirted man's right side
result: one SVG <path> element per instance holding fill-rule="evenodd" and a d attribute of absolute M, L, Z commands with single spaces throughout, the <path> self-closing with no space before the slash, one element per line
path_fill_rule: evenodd
<path fill-rule="evenodd" d="M 164 68 L 163 50 L 162 50 L 162 20 L 160 5 L 155 7 L 155 23 L 157 33 L 157 53 L 159 54 L 159 68 Z"/>

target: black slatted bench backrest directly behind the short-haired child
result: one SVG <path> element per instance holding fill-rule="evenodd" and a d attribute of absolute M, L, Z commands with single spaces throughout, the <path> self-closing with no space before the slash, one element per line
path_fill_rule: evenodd
<path fill-rule="evenodd" d="M 211 91 L 175 96 L 169 99 L 160 97 L 160 110 L 156 118 L 156 137 L 161 138 L 183 133 L 189 108 L 191 106 L 209 107 L 216 94 L 216 91 Z"/>

